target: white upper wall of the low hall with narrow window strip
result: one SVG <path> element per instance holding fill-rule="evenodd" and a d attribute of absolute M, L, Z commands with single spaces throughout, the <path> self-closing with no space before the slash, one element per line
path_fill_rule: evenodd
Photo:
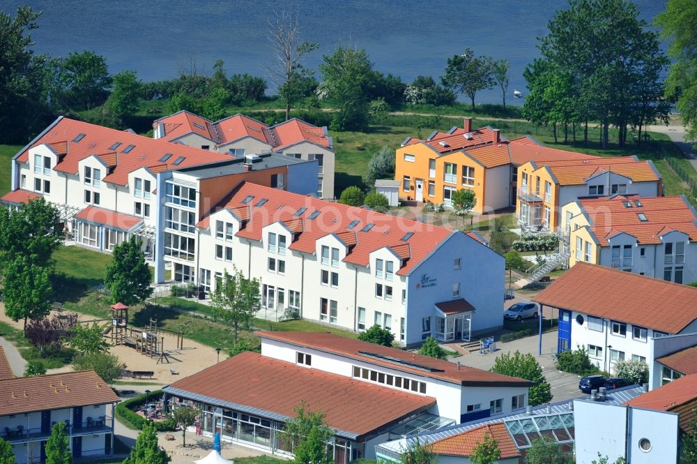
<path fill-rule="evenodd" d="M 461 421 L 461 414 L 465 414 L 467 412 L 468 405 L 480 404 L 483 410 L 488 410 L 489 403 L 491 401 L 496 401 L 497 399 L 503 398 L 503 411 L 501 413 L 510 414 L 512 411 L 512 396 L 525 395 L 525 404 L 527 405 L 528 403 L 528 389 L 526 387 L 463 387 L 459 384 L 446 382 L 445 380 L 438 380 L 433 377 L 417 375 L 414 373 L 405 373 L 397 368 L 389 368 L 380 364 L 372 364 L 368 361 L 352 359 L 350 357 L 323 352 L 321 350 L 314 350 L 308 347 L 298 347 L 279 340 L 262 339 L 261 341 L 261 354 L 273 359 L 298 364 L 298 352 L 312 355 L 312 366 L 307 366 L 307 368 L 319 369 L 320 371 L 344 375 L 345 377 L 353 377 L 353 366 L 358 366 L 372 369 L 373 371 L 378 371 L 379 373 L 385 373 L 387 375 L 398 375 L 410 380 L 425 382 L 425 394 L 420 394 L 413 391 L 408 391 L 408 393 L 436 398 L 436 407 L 434 410 L 429 412 L 438 414 L 441 417 L 446 417 L 447 419 L 452 419 L 458 424 Z M 298 366 L 305 365 L 298 364 Z M 371 380 L 364 380 L 360 378 L 357 378 L 357 380 L 378 384 L 377 382 L 372 382 Z M 379 385 L 385 388 L 406 391 L 387 384 Z M 496 413 L 493 415 L 501 413 Z"/>

